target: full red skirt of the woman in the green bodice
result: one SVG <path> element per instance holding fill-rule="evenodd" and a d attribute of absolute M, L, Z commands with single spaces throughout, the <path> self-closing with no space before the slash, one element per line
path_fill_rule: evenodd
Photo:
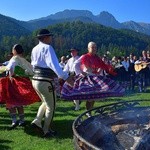
<path fill-rule="evenodd" d="M 39 101 L 29 78 L 0 78 L 0 103 L 6 104 L 6 107 L 30 105 Z"/>

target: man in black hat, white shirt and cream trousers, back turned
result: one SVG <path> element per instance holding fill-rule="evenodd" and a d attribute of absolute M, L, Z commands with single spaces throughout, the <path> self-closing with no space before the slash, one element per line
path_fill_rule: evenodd
<path fill-rule="evenodd" d="M 41 98 L 42 104 L 31 125 L 38 129 L 38 131 L 43 132 L 43 137 L 51 137 L 56 134 L 50 128 L 55 111 L 53 75 L 56 74 L 60 79 L 66 80 L 68 74 L 62 71 L 55 51 L 50 45 L 52 42 L 52 34 L 47 29 L 41 29 L 37 38 L 39 44 L 33 48 L 31 54 L 31 64 L 34 68 L 32 85 Z M 48 80 L 51 84 L 44 80 Z M 41 122 L 43 117 L 44 125 L 42 127 Z"/>

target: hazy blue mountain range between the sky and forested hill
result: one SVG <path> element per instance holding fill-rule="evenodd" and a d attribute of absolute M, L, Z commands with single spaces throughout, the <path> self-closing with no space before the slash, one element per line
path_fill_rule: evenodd
<path fill-rule="evenodd" d="M 54 25 L 57 23 L 63 23 L 67 21 L 72 22 L 77 20 L 86 23 L 97 23 L 115 29 L 129 29 L 150 35 L 149 23 L 141 23 L 134 21 L 126 21 L 120 23 L 115 19 L 115 17 L 112 14 L 106 11 L 102 11 L 98 15 L 93 15 L 93 13 L 88 10 L 68 9 L 61 12 L 57 12 L 55 14 L 51 14 L 47 17 L 42 17 L 30 21 L 20 21 L 8 16 L 0 15 L 0 33 L 2 35 L 4 33 L 4 30 L 7 30 L 7 34 L 9 35 L 12 34 L 12 32 L 14 33 L 14 30 L 16 29 L 19 30 L 19 32 L 17 33 L 24 35 L 39 28 L 47 27 L 49 25 Z M 11 26 L 9 27 L 9 25 Z"/>

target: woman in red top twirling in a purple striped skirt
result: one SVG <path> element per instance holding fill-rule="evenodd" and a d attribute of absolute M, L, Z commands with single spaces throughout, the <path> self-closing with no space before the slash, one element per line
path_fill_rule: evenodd
<path fill-rule="evenodd" d="M 73 84 L 65 82 L 61 91 L 63 99 L 87 100 L 87 110 L 93 108 L 96 99 L 122 96 L 125 92 L 125 89 L 114 80 L 100 75 L 102 70 L 112 75 L 116 73 L 113 67 L 105 64 L 96 52 L 96 43 L 89 42 L 88 53 L 82 55 L 75 65 L 78 75 L 75 76 Z"/>

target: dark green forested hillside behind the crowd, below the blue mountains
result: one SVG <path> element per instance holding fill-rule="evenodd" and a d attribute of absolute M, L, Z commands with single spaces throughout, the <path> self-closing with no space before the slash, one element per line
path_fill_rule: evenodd
<path fill-rule="evenodd" d="M 76 47 L 80 54 L 87 52 L 87 44 L 94 41 L 98 46 L 98 54 L 103 55 L 107 51 L 112 56 L 129 55 L 133 52 L 140 55 L 142 50 L 150 50 L 150 36 L 131 30 L 116 30 L 96 23 L 83 23 L 81 21 L 66 22 L 48 26 L 53 34 L 53 47 L 60 58 L 68 55 L 68 50 Z M 16 31 L 19 32 L 19 31 Z M 0 62 L 5 61 L 14 44 L 19 43 L 25 50 L 25 57 L 30 60 L 31 50 L 38 43 L 34 31 L 22 36 L 1 36 L 0 38 Z"/>

